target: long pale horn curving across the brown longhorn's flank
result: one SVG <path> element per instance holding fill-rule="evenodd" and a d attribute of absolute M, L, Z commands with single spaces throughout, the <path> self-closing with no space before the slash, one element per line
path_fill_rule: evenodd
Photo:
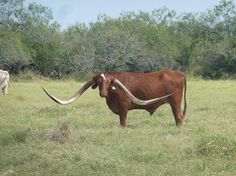
<path fill-rule="evenodd" d="M 118 79 L 115 79 L 114 83 L 116 83 L 125 92 L 125 94 L 131 99 L 131 101 L 137 105 L 150 105 L 172 95 L 172 94 L 169 94 L 169 95 L 165 95 L 165 96 L 150 99 L 150 100 L 140 100 L 137 97 L 135 97 Z"/>

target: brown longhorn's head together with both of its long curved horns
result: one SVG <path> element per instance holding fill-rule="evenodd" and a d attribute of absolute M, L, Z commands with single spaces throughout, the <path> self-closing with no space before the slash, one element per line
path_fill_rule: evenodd
<path fill-rule="evenodd" d="M 71 98 L 69 98 L 68 100 L 60 100 L 56 97 L 54 97 L 53 95 L 51 95 L 46 89 L 43 90 L 44 92 L 56 103 L 62 104 L 62 105 L 66 105 L 66 104 L 70 104 L 72 102 L 74 102 L 77 98 L 79 98 L 89 87 L 91 87 L 93 89 L 99 87 L 99 93 L 101 97 L 107 97 L 109 95 L 109 91 L 117 91 L 116 87 L 119 87 L 119 89 L 121 91 L 124 92 L 124 94 L 130 98 L 130 100 L 138 105 L 149 105 L 152 103 L 156 103 L 160 100 L 163 100 L 169 96 L 171 96 L 171 94 L 163 96 L 163 97 L 158 97 L 158 98 L 154 98 L 154 99 L 150 99 L 150 100 L 140 100 L 137 97 L 135 97 L 130 91 L 129 89 L 123 85 L 118 79 L 114 78 L 111 74 L 97 74 L 96 76 L 93 77 L 93 79 L 91 79 L 90 81 L 88 81 L 86 84 L 84 84 Z"/>

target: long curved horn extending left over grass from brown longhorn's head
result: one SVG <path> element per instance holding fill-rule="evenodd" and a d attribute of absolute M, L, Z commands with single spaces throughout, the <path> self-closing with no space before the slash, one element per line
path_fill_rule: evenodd
<path fill-rule="evenodd" d="M 72 102 L 74 102 L 77 98 L 79 98 L 90 86 L 92 86 L 94 84 L 93 80 L 88 81 L 86 84 L 84 84 L 71 98 L 69 98 L 68 100 L 60 100 L 56 97 L 54 97 L 53 95 L 51 95 L 46 89 L 43 89 L 43 91 L 56 103 L 58 104 L 62 104 L 62 105 L 67 105 L 70 104 Z"/>

